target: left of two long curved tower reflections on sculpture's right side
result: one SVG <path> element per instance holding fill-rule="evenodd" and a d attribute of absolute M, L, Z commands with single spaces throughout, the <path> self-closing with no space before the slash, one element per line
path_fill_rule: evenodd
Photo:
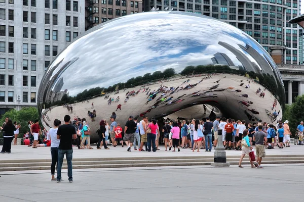
<path fill-rule="evenodd" d="M 248 71 L 248 72 L 252 71 L 252 72 L 255 72 L 255 73 L 260 73 L 260 70 L 257 69 L 257 66 L 254 65 L 254 63 L 252 61 L 250 61 L 249 58 L 244 53 L 239 51 L 237 48 L 235 48 L 234 46 L 232 46 L 228 43 L 225 43 L 223 41 L 219 41 L 218 44 L 225 47 L 226 49 L 228 49 L 231 53 L 233 53 L 237 57 L 237 59 L 243 65 L 242 70 Z"/>

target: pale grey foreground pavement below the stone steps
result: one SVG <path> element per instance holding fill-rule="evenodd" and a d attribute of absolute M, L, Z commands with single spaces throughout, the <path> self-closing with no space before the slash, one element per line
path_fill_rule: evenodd
<path fill-rule="evenodd" d="M 303 201 L 304 165 L 149 168 L 0 177 L 0 201 Z"/>

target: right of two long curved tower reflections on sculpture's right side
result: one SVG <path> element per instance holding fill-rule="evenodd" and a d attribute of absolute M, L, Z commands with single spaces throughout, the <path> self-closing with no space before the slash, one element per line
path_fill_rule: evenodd
<path fill-rule="evenodd" d="M 240 48 L 242 48 L 244 51 L 246 51 L 257 62 L 257 64 L 262 68 L 261 73 L 270 74 L 270 75 L 274 76 L 272 67 L 270 66 L 269 62 L 265 59 L 266 57 L 264 56 L 264 54 L 262 56 L 249 44 L 246 44 L 245 47 L 240 44 L 238 44 L 238 45 L 240 46 Z"/>

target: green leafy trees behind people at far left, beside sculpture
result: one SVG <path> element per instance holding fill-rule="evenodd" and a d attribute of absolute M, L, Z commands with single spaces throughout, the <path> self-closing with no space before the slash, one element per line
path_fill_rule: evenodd
<path fill-rule="evenodd" d="M 39 114 L 37 108 L 30 107 L 30 108 L 22 108 L 21 110 L 17 111 L 15 109 L 12 109 L 8 112 L 6 112 L 4 115 L 2 115 L 2 118 L 0 119 L 0 123 L 5 122 L 5 118 L 9 117 L 12 119 L 13 123 L 14 121 L 17 121 L 17 123 L 21 124 L 21 128 L 19 129 L 19 136 L 18 138 L 22 138 L 23 135 L 26 133 L 26 131 L 29 130 L 28 128 L 28 121 L 35 121 L 39 120 L 40 126 L 42 127 L 41 121 L 39 119 Z M 42 127 L 43 128 L 43 127 Z M 0 137 L 3 138 L 3 133 L 0 134 Z"/>

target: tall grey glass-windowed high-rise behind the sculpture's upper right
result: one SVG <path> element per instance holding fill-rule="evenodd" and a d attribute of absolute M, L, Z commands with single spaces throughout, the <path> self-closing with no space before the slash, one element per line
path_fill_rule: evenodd
<path fill-rule="evenodd" d="M 153 7 L 220 19 L 252 36 L 268 52 L 271 51 L 271 46 L 285 47 L 284 63 L 299 63 L 299 29 L 296 24 L 289 24 L 288 21 L 299 14 L 300 0 L 145 0 L 143 2 L 145 12 Z"/>

